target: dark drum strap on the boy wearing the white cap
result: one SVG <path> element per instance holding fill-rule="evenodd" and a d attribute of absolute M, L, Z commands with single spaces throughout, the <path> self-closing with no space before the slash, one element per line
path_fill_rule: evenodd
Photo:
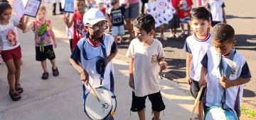
<path fill-rule="evenodd" d="M 87 58 L 87 54 L 86 54 L 86 51 L 85 51 L 85 40 L 87 40 L 89 35 L 90 35 L 89 33 L 87 33 L 85 35 L 84 40 L 83 40 L 83 47 L 82 47 L 82 56 L 86 60 L 91 60 L 91 59 Z M 107 52 L 106 52 L 106 47 L 105 47 L 105 44 L 104 44 L 104 39 L 105 39 L 105 35 L 103 35 L 102 40 L 100 40 L 100 46 L 102 48 L 102 54 L 103 54 L 104 68 L 101 68 L 99 66 L 99 64 L 102 61 L 102 59 L 100 59 L 96 63 L 96 71 L 97 71 L 97 73 L 100 73 L 100 85 L 102 85 L 102 80 L 104 79 L 105 68 L 107 66 Z M 100 57 L 100 56 L 96 56 L 96 57 Z M 92 58 L 92 59 L 94 59 L 94 58 Z"/>

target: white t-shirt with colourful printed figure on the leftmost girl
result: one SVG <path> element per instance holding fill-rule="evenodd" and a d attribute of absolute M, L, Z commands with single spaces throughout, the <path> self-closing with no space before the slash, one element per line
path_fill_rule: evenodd
<path fill-rule="evenodd" d="M 0 49 L 9 50 L 15 49 L 20 45 L 18 40 L 18 32 L 16 25 L 19 24 L 19 21 L 15 16 L 11 16 L 9 24 L 0 25 Z"/>

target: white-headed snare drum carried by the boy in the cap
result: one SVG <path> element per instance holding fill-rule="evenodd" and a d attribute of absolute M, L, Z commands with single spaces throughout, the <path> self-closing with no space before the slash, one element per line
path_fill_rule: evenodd
<path fill-rule="evenodd" d="M 114 94 L 106 88 L 95 88 L 100 99 L 97 100 L 95 93 L 90 90 L 85 99 L 85 114 L 90 119 L 110 119 L 117 108 L 117 100 Z"/>

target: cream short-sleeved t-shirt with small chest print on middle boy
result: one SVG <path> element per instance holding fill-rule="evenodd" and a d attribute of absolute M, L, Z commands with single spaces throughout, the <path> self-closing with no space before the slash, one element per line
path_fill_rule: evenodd
<path fill-rule="evenodd" d="M 159 61 L 164 57 L 164 49 L 159 40 L 144 47 L 138 39 L 129 44 L 127 57 L 134 59 L 134 93 L 137 97 L 159 92 Z"/>

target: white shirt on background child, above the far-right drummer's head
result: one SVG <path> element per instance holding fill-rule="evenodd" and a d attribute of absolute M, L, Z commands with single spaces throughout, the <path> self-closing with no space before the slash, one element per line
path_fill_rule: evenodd
<path fill-rule="evenodd" d="M 223 22 L 223 8 L 225 7 L 223 0 L 208 1 L 208 8 L 212 15 L 213 21 Z"/>

